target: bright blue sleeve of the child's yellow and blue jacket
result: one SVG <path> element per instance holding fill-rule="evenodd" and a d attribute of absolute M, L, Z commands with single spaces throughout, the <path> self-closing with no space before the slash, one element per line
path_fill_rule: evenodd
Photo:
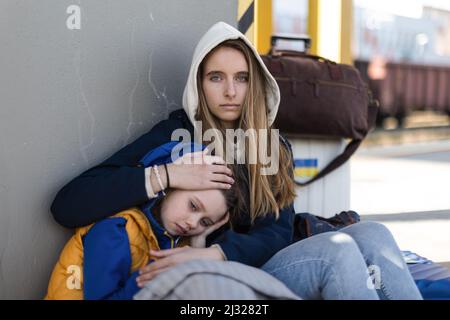
<path fill-rule="evenodd" d="M 83 240 L 84 299 L 131 300 L 139 291 L 138 271 L 130 274 L 131 252 L 126 219 L 96 223 Z"/>

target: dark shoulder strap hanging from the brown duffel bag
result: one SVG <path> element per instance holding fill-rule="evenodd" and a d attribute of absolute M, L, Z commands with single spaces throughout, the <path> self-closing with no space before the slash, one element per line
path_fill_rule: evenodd
<path fill-rule="evenodd" d="M 368 119 L 367 122 L 369 124 L 369 130 L 375 127 L 375 120 L 377 118 L 378 113 L 378 107 L 379 102 L 378 100 L 373 99 L 372 92 L 369 90 L 369 105 L 368 105 Z M 364 138 L 363 138 L 364 139 Z M 355 153 L 356 150 L 358 150 L 359 146 L 361 145 L 361 142 L 363 139 L 353 139 L 350 141 L 347 146 L 345 147 L 344 151 L 338 155 L 336 158 L 334 158 L 325 168 L 323 168 L 315 177 L 312 179 L 306 181 L 306 182 L 298 182 L 295 181 L 295 183 L 298 186 L 305 187 L 311 183 L 313 183 L 316 180 L 319 180 L 320 178 L 326 176 L 330 172 L 336 170 L 341 165 L 343 165 L 350 157 Z"/>

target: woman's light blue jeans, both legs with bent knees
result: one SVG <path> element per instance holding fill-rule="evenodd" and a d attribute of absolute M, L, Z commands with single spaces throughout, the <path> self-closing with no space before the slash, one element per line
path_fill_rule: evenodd
<path fill-rule="evenodd" d="M 422 299 L 392 234 L 376 222 L 298 241 L 262 270 L 303 299 Z"/>

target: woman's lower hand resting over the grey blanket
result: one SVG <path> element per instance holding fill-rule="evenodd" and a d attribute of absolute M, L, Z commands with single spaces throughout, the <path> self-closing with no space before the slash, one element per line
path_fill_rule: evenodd
<path fill-rule="evenodd" d="M 167 271 L 170 267 L 176 266 L 179 263 L 194 259 L 223 260 L 222 253 L 215 247 L 199 249 L 186 246 L 160 251 L 150 250 L 150 255 L 157 260 L 139 270 L 139 276 L 136 278 L 136 282 L 140 288 L 156 275 Z"/>

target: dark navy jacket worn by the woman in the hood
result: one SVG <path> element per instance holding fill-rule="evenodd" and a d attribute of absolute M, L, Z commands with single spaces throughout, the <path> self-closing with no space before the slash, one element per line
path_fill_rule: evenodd
<path fill-rule="evenodd" d="M 51 206 L 55 220 L 69 228 L 89 225 L 105 217 L 148 201 L 144 166 L 139 160 L 149 151 L 171 141 L 172 132 L 194 129 L 184 110 L 172 112 L 148 133 L 125 146 L 101 164 L 83 172 L 64 186 Z M 289 146 L 289 143 L 282 139 Z M 289 146 L 290 148 L 290 146 Z M 217 243 L 228 260 L 259 267 L 292 243 L 293 204 L 251 224 L 248 213 L 240 215 L 235 231 L 222 228 L 211 234 L 207 245 Z"/>

